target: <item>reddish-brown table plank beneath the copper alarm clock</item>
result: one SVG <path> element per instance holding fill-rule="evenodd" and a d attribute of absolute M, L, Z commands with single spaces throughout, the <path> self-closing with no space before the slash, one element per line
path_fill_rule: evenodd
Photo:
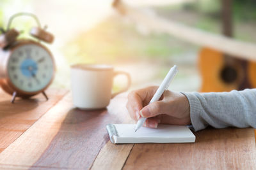
<path fill-rule="evenodd" d="M 49 100 L 42 94 L 31 99 L 20 99 L 10 103 L 12 96 L 0 90 L 0 152 L 25 132 L 36 120 L 56 104 L 67 90 L 46 90 Z"/>

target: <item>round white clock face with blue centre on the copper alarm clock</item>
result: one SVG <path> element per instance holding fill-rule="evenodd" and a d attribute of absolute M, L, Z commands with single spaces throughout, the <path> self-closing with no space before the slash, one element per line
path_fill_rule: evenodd
<path fill-rule="evenodd" d="M 51 54 L 42 46 L 26 44 L 17 47 L 8 60 L 8 76 L 13 85 L 25 92 L 46 87 L 54 74 Z"/>

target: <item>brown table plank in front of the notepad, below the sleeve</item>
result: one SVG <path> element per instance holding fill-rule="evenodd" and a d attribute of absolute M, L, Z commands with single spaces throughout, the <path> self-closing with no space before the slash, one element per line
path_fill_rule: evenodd
<path fill-rule="evenodd" d="M 195 143 L 134 145 L 124 169 L 255 169 L 253 129 L 205 129 Z"/>

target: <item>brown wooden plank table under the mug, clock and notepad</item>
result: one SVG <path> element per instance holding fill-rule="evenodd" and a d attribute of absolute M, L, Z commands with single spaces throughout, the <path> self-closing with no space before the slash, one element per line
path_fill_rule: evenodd
<path fill-rule="evenodd" d="M 131 122 L 125 94 L 81 111 L 67 90 L 10 103 L 0 90 L 1 169 L 253 169 L 253 129 L 206 129 L 195 143 L 114 145 L 108 123 Z"/>

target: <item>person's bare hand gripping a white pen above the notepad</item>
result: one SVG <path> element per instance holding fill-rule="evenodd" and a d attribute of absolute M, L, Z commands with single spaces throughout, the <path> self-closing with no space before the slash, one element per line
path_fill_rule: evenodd
<path fill-rule="evenodd" d="M 129 93 L 127 110 L 132 119 L 140 117 L 147 120 L 143 126 L 156 128 L 159 123 L 173 125 L 189 125 L 190 107 L 184 94 L 165 90 L 159 101 L 150 103 L 158 87 L 147 87 Z"/>

